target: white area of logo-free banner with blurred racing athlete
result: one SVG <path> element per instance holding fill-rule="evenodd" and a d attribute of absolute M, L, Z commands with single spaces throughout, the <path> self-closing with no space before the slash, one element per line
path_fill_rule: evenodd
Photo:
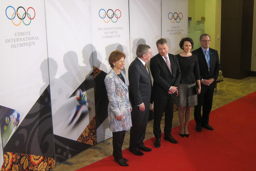
<path fill-rule="evenodd" d="M 54 134 L 77 140 L 95 116 L 94 88 L 90 87 L 81 92 L 89 114 L 86 110 L 83 119 L 69 120 L 70 115 L 81 114 L 75 112 L 83 106 L 76 89 L 93 72 L 90 1 L 46 0 L 45 12 Z"/>

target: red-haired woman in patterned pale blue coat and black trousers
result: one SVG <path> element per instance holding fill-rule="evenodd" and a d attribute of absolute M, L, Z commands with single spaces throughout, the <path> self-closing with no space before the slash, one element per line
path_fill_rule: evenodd
<path fill-rule="evenodd" d="M 111 52 L 109 64 L 112 69 L 106 75 L 105 85 L 109 98 L 109 129 L 113 132 L 113 156 L 119 165 L 129 166 L 126 163 L 128 160 L 122 155 L 125 132 L 132 126 L 128 83 L 122 71 L 125 65 L 125 54 L 118 50 Z"/>

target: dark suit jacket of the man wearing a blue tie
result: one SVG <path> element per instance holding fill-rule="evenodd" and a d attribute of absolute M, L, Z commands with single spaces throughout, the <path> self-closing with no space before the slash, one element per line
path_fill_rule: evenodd
<path fill-rule="evenodd" d="M 210 79 L 214 78 L 217 80 L 219 75 L 219 55 L 218 51 L 209 48 L 210 50 L 210 71 L 208 70 L 208 65 L 205 59 L 205 56 L 203 54 L 202 48 L 198 48 L 194 50 L 192 53 L 197 55 L 198 64 L 199 64 L 199 70 L 200 70 L 200 80 L 202 79 Z M 214 81 L 209 88 L 214 89 L 216 87 L 216 82 Z"/>

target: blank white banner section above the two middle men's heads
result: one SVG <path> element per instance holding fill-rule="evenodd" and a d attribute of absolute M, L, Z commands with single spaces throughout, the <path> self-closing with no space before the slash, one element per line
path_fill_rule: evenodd
<path fill-rule="evenodd" d="M 161 0 L 129 0 L 131 61 L 139 44 L 158 53 L 156 41 L 161 38 Z M 149 65 L 148 65 L 149 66 Z"/>

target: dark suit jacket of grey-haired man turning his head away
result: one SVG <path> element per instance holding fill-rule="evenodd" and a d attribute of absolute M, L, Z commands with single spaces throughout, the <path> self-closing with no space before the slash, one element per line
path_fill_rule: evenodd
<path fill-rule="evenodd" d="M 128 74 L 131 105 L 138 106 L 144 103 L 145 107 L 149 107 L 152 89 L 151 76 L 137 57 L 130 64 Z"/>

